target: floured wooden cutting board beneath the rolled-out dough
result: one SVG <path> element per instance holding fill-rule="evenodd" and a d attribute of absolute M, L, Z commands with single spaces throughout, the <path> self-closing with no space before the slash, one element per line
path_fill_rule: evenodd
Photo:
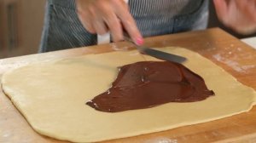
<path fill-rule="evenodd" d="M 223 67 L 241 83 L 256 89 L 256 50 L 218 28 L 149 37 L 146 39 L 146 45 L 192 49 Z M 133 47 L 129 43 L 111 43 L 3 59 L 0 60 L 0 78 L 10 69 L 34 62 L 103 53 L 114 49 L 133 49 Z M 256 106 L 250 112 L 208 123 L 105 142 L 200 143 L 212 141 L 256 142 Z M 0 89 L 0 142 L 62 143 L 66 141 L 50 139 L 35 132 Z"/>

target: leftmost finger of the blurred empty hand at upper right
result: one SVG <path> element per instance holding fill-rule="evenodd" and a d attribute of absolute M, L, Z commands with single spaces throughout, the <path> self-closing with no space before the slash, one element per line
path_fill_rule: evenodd
<path fill-rule="evenodd" d="M 228 3 L 225 0 L 213 0 L 218 19 L 225 22 L 228 17 Z"/>

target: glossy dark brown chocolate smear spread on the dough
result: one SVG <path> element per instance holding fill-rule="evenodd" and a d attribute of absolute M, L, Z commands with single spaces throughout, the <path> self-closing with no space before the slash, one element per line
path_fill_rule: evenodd
<path fill-rule="evenodd" d="M 119 68 L 108 91 L 86 104 L 101 112 L 123 112 L 169 102 L 195 102 L 213 95 L 202 77 L 170 61 L 141 61 Z"/>

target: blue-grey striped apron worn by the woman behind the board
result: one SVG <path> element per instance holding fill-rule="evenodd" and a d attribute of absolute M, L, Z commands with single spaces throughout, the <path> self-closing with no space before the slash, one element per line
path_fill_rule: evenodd
<path fill-rule="evenodd" d="M 143 37 L 205 29 L 208 0 L 130 0 L 131 15 Z M 79 21 L 75 0 L 48 0 L 39 52 L 97 43 Z"/>

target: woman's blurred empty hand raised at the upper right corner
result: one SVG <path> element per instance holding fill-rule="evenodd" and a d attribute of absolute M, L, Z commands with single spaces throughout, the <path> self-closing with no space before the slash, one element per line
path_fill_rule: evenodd
<path fill-rule="evenodd" d="M 256 0 L 214 0 L 218 19 L 241 34 L 256 31 Z"/>

